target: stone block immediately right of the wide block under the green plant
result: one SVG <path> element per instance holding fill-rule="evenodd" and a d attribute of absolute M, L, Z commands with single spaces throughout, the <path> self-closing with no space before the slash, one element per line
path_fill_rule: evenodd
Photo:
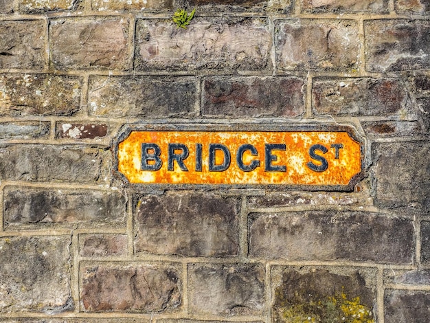
<path fill-rule="evenodd" d="M 275 21 L 276 64 L 280 71 L 352 70 L 358 67 L 356 21 Z"/>

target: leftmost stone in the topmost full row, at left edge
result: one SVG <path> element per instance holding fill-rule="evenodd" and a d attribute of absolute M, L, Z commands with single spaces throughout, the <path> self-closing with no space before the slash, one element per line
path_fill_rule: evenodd
<path fill-rule="evenodd" d="M 45 23 L 42 20 L 0 21 L 0 68 L 45 67 Z"/>

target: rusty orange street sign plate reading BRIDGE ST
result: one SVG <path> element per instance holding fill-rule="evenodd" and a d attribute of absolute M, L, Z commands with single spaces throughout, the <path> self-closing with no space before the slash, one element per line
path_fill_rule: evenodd
<path fill-rule="evenodd" d="M 350 186 L 363 164 L 352 133 L 128 129 L 117 170 L 130 183 Z"/>

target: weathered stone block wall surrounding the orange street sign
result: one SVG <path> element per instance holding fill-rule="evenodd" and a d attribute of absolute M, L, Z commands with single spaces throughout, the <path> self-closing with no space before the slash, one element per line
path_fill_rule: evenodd
<path fill-rule="evenodd" d="M 196 8 L 187 30 L 177 8 Z M 427 322 L 430 1 L 0 0 L 0 322 Z M 154 190 L 124 124 L 350 124 L 354 192 Z"/>

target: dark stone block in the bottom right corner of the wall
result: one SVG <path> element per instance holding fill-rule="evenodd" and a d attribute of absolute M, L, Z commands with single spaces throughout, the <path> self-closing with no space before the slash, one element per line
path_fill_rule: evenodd
<path fill-rule="evenodd" d="M 385 289 L 385 323 L 427 322 L 430 310 L 429 291 Z"/>

